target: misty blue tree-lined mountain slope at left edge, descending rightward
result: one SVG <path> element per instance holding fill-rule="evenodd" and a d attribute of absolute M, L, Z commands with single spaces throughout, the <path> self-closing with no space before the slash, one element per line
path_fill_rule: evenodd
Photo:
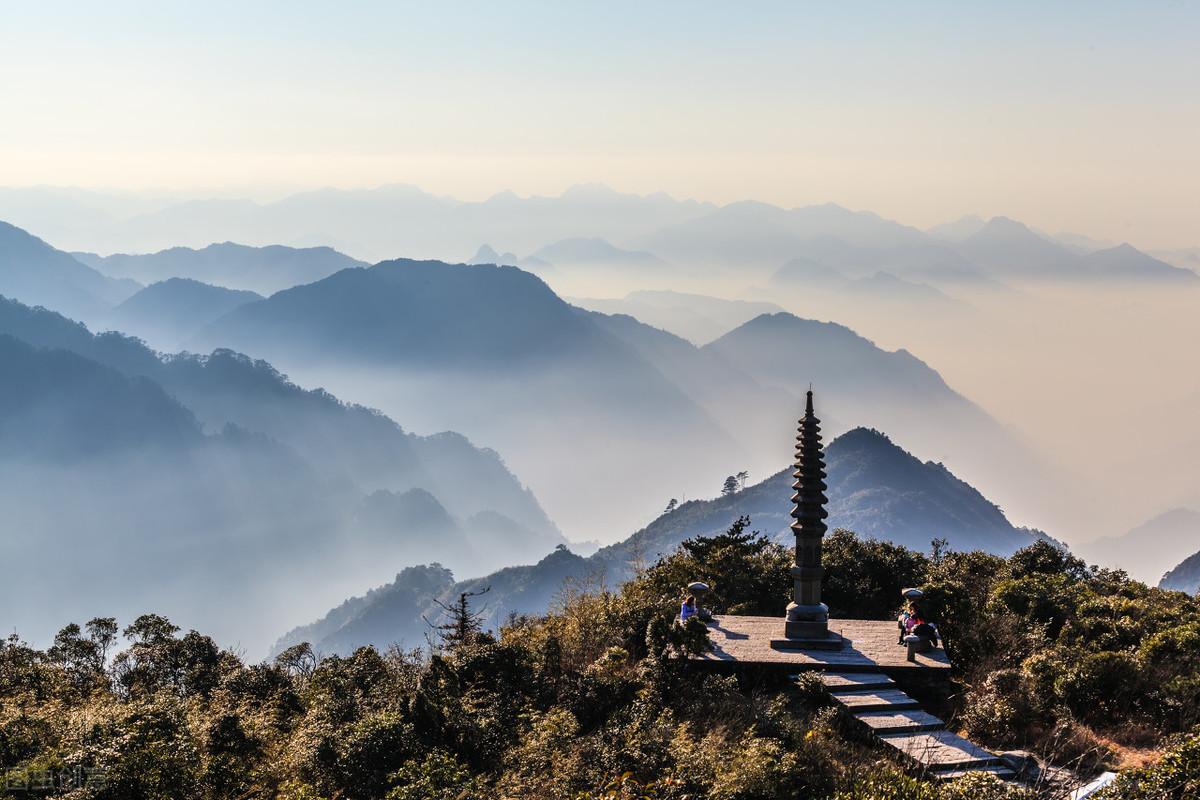
<path fill-rule="evenodd" d="M 564 541 L 494 452 L 406 433 L 263 361 L 161 357 L 10 300 L 0 336 L 5 560 L 71 554 L 5 583 L 22 630 L 85 604 L 130 618 L 150 596 L 252 646 L 372 572 L 428 558 L 486 571 Z"/>

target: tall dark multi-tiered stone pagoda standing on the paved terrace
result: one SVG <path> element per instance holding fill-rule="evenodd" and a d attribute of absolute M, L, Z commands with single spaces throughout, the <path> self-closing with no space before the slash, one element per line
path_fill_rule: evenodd
<path fill-rule="evenodd" d="M 844 639 L 829 631 L 829 607 L 821 602 L 821 540 L 824 537 L 826 504 L 824 450 L 821 446 L 821 420 L 812 411 L 812 391 L 809 390 L 804 417 L 796 437 L 796 482 L 792 488 L 792 534 L 796 535 L 796 558 L 792 563 L 794 582 L 792 602 L 787 604 L 784 638 L 773 639 L 779 649 L 840 649 Z"/>

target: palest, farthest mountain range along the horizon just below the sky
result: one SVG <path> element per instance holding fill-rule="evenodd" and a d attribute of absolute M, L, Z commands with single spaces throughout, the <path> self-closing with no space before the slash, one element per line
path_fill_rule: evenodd
<path fill-rule="evenodd" d="M 107 251 L 204 247 L 230 239 L 256 246 L 347 242 L 343 248 L 353 247 L 359 258 L 378 260 L 397 253 L 425 258 L 468 253 L 479 242 L 503 243 L 511 255 L 535 253 L 547 242 L 602 240 L 618 252 L 642 252 L 701 272 L 752 266 L 762 271 L 761 278 L 791 259 L 810 257 L 851 277 L 882 271 L 907 279 L 923 270 L 949 269 L 1021 279 L 1195 279 L 1195 272 L 1146 260 L 1144 253 L 1121 254 L 1106 264 L 1080 263 L 1081 254 L 1105 247 L 1080 237 L 1051 241 L 1004 217 L 966 217 L 922 231 L 834 204 L 784 209 L 744 200 L 719 206 L 664 193 L 626 194 L 600 185 L 575 186 L 559 197 L 500 192 L 482 201 L 438 197 L 413 186 L 326 188 L 265 204 L 192 200 L 149 212 L 126 204 L 124 217 L 112 213 L 119 203 L 94 198 L 89 206 L 85 193 L 36 194 L 30 198 L 36 199 L 36 212 L 23 215 L 19 191 L 0 193 L 0 211 L 76 248 L 74 242 L 88 242 Z M 103 224 L 96 225 L 101 209 Z M 497 254 L 498 260 L 516 260 Z M 518 265 L 538 269 L 532 261 Z M 166 277 L 175 276 L 156 273 L 148 281 Z M 282 288 L 226 283 L 200 273 L 181 277 L 264 294 Z"/>

